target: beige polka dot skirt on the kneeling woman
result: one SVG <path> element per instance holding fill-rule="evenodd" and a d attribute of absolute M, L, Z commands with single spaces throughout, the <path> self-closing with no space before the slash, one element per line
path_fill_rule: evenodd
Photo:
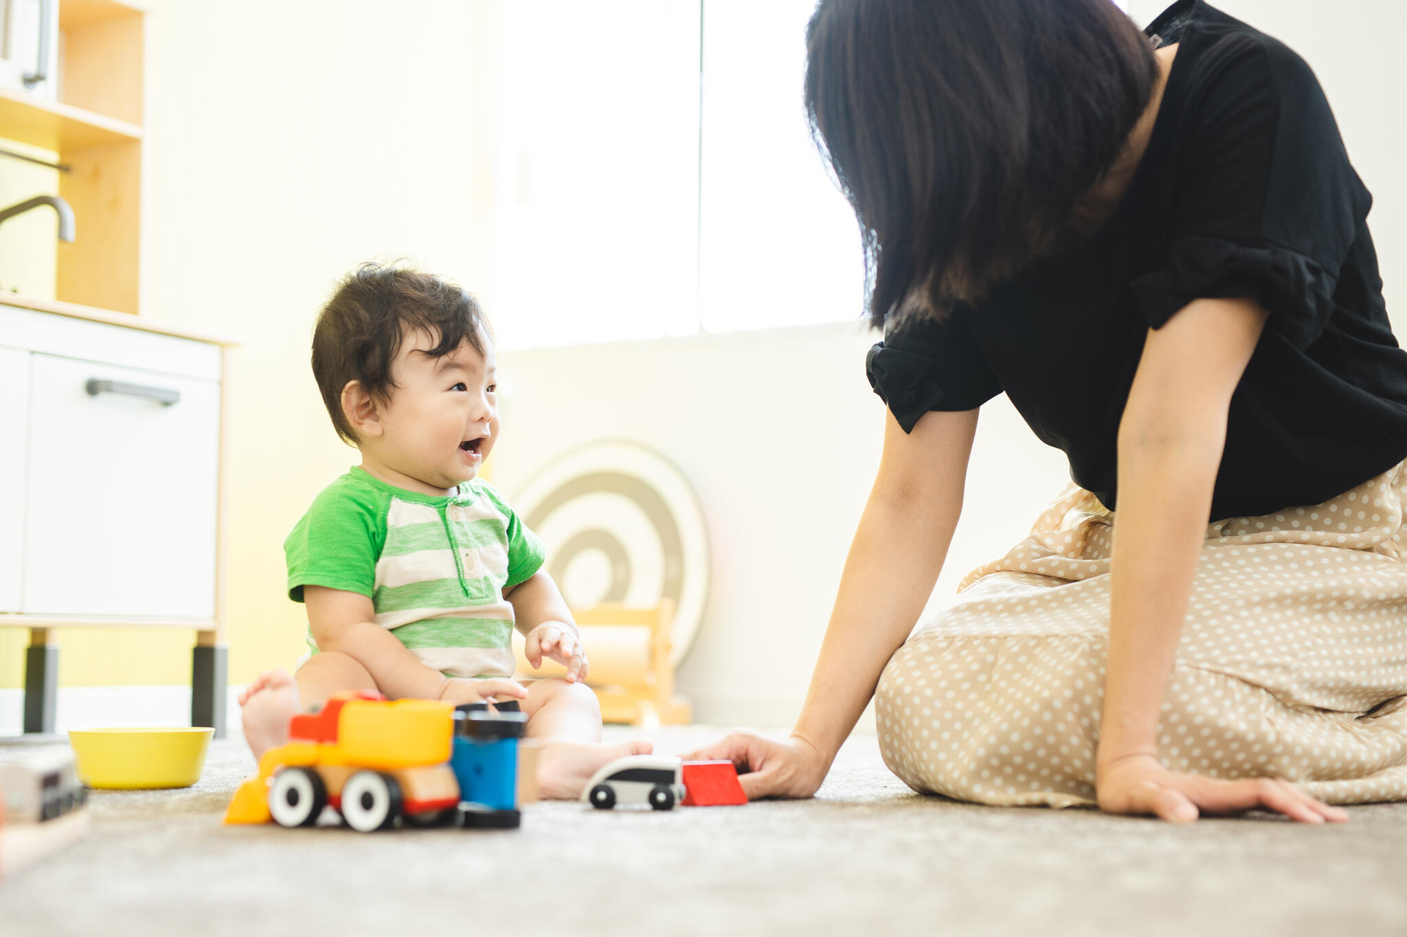
<path fill-rule="evenodd" d="M 1207 528 L 1158 726 L 1173 770 L 1407 799 L 1407 462 L 1324 504 Z M 1095 799 L 1113 516 L 1069 490 L 879 677 L 885 763 L 982 804 Z"/>

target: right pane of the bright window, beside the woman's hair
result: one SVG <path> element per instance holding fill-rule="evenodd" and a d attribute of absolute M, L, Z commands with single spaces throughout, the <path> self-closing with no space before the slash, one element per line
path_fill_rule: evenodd
<path fill-rule="evenodd" d="M 802 105 L 813 0 L 704 0 L 699 299 L 705 332 L 860 315 L 850 205 Z"/>

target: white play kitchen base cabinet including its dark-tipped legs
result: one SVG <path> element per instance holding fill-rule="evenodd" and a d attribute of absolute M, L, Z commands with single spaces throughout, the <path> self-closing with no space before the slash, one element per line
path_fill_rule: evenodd
<path fill-rule="evenodd" d="M 197 634 L 191 725 L 224 735 L 228 343 L 23 303 L 0 303 L 0 627 L 30 629 L 24 730 L 53 730 L 52 629 L 169 627 Z"/>

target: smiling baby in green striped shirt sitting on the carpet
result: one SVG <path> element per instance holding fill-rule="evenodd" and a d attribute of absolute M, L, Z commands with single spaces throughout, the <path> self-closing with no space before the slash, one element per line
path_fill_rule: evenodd
<path fill-rule="evenodd" d="M 324 306 L 312 374 L 362 464 L 314 499 L 284 541 L 288 596 L 311 652 L 241 695 L 257 759 L 288 718 L 339 690 L 453 704 L 516 700 L 542 739 L 543 797 L 574 798 L 606 761 L 646 754 L 601 743 L 587 656 L 543 548 L 498 492 L 476 480 L 498 438 L 494 346 L 473 296 L 404 267 L 364 264 Z M 528 662 L 561 680 L 512 679 L 514 625 Z"/>

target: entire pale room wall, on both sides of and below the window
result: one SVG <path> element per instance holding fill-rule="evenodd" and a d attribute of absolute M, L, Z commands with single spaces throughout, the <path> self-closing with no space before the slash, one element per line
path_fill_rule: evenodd
<path fill-rule="evenodd" d="M 491 315 L 511 315 L 492 302 L 501 7 L 151 6 L 142 309 L 243 341 L 229 531 L 231 677 L 243 681 L 300 652 L 280 542 L 355 455 L 328 428 L 307 369 L 312 315 L 332 282 L 360 258 L 411 254 L 484 292 Z M 1158 11 L 1130 6 L 1141 22 Z M 1304 0 L 1221 6 L 1287 41 L 1324 83 L 1376 195 L 1389 308 L 1407 336 L 1407 180 L 1396 171 L 1407 145 L 1407 66 L 1396 56 L 1407 4 L 1355 0 L 1334 20 Z M 878 457 L 882 413 L 861 367 L 868 343 L 839 325 L 504 351 L 512 393 L 494 472 L 508 492 L 597 435 L 649 441 L 696 485 L 715 582 L 681 687 L 702 719 L 785 722 L 801 702 Z M 989 405 L 936 594 L 1003 552 L 1062 482 L 1059 455 L 1005 402 Z M 66 684 L 189 679 L 189 635 L 73 638 L 63 635 Z M 0 686 L 18 683 L 18 648 L 0 646 Z"/>

